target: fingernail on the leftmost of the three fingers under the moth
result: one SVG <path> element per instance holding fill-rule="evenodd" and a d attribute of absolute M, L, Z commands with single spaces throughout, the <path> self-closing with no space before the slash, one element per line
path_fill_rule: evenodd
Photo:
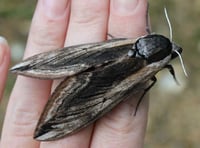
<path fill-rule="evenodd" d="M 62 16 L 66 12 L 69 0 L 43 0 L 45 11 L 49 17 Z"/>

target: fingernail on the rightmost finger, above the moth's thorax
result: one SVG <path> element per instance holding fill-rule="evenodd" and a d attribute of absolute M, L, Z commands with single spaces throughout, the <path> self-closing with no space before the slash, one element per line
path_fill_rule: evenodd
<path fill-rule="evenodd" d="M 115 11 L 118 11 L 121 14 L 126 14 L 133 12 L 137 7 L 139 0 L 114 0 L 113 7 Z"/>

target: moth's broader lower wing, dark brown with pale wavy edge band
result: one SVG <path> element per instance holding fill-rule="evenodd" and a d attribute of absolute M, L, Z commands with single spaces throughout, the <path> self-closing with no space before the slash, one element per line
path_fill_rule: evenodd
<path fill-rule="evenodd" d="M 143 67 L 127 58 L 64 80 L 52 94 L 35 131 L 37 140 L 56 140 L 93 123 L 133 91 L 128 77 Z"/>

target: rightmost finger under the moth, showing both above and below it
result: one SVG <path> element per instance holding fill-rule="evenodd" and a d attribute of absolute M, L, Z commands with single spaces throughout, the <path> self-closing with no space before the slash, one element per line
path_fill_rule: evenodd
<path fill-rule="evenodd" d="M 136 38 L 146 33 L 146 0 L 111 0 L 108 32 Z M 148 99 L 133 116 L 139 96 L 122 102 L 95 125 L 91 147 L 143 147 Z"/>

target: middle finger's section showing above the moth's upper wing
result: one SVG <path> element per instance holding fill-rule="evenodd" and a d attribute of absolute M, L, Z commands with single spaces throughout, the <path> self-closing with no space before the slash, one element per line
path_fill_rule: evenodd
<path fill-rule="evenodd" d="M 105 40 L 109 0 L 74 0 L 65 45 Z"/>

